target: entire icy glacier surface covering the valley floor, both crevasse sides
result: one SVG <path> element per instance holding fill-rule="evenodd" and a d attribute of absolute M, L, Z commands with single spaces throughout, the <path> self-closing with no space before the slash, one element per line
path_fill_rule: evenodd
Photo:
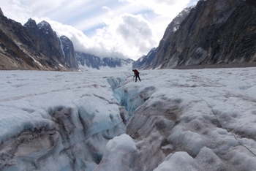
<path fill-rule="evenodd" d="M 1 71 L 0 170 L 255 170 L 256 68 L 127 69 Z"/>

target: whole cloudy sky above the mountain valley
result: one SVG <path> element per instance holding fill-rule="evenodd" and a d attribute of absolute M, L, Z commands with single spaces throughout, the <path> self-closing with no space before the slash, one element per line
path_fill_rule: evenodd
<path fill-rule="evenodd" d="M 167 25 L 198 0 L 4 0 L 7 18 L 48 21 L 75 50 L 137 60 L 157 47 Z"/>

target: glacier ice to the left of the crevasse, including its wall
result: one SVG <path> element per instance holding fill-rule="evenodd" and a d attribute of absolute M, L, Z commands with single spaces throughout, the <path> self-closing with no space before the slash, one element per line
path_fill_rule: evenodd
<path fill-rule="evenodd" d="M 0 170 L 94 170 L 128 118 L 104 76 L 1 71 Z"/>

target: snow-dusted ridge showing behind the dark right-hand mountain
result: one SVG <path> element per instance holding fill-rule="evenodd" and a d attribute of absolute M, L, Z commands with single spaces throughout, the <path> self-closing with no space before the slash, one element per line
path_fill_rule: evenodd
<path fill-rule="evenodd" d="M 189 12 L 191 11 L 191 9 L 195 8 L 195 6 L 192 7 L 187 7 L 184 10 L 182 10 L 177 16 L 176 18 L 174 18 L 172 20 L 172 22 L 170 22 L 170 24 L 167 26 L 166 30 L 165 30 L 165 34 L 164 37 L 162 38 L 162 40 L 159 42 L 159 47 L 165 47 L 166 44 L 168 43 L 168 40 L 173 37 L 173 34 L 176 33 L 176 31 L 178 30 L 179 26 L 181 25 L 182 21 L 187 18 L 187 16 L 189 15 Z M 165 41 L 166 40 L 166 41 Z M 154 58 L 157 54 L 157 50 L 159 48 L 154 47 L 150 50 L 150 52 L 148 53 L 148 55 L 146 56 L 142 56 L 141 58 L 138 59 L 138 61 L 135 61 L 133 64 L 133 68 L 137 68 L 137 69 L 151 69 L 153 66 L 153 62 L 154 62 Z M 166 49 L 162 49 L 163 51 L 165 51 Z M 161 59 L 159 59 L 161 60 Z M 159 61 L 160 62 L 160 61 Z"/>

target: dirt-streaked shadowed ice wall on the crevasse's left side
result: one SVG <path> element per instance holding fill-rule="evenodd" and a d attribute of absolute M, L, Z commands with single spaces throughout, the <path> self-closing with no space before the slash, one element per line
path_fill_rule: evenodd
<path fill-rule="evenodd" d="M 127 112 L 122 107 L 119 110 L 119 116 L 101 115 L 102 121 L 95 123 L 95 115 L 83 108 L 52 109 L 53 128 L 24 130 L 18 137 L 3 142 L 1 169 L 94 170 L 108 140 L 125 133 L 123 118 Z"/>

